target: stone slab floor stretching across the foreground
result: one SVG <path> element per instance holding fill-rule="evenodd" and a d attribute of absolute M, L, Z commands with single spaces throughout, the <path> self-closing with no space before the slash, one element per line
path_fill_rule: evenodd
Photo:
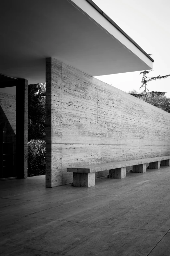
<path fill-rule="evenodd" d="M 45 188 L 0 181 L 0 255 L 170 255 L 170 167 Z"/>

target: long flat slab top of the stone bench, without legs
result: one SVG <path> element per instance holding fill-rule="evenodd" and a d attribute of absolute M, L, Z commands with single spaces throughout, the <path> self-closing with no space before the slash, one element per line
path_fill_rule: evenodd
<path fill-rule="evenodd" d="M 152 158 L 144 158 L 144 159 L 135 159 L 128 161 L 119 161 L 119 162 L 109 162 L 109 163 L 101 163 L 101 164 L 92 164 L 92 165 L 83 165 L 83 166 L 75 166 L 72 168 L 67 168 L 67 172 L 78 172 L 78 173 L 92 173 L 92 172 L 100 172 L 106 171 L 121 167 L 127 167 L 131 165 L 150 163 L 150 162 L 158 162 L 162 160 L 168 160 L 170 156 L 163 157 L 152 157 Z"/>

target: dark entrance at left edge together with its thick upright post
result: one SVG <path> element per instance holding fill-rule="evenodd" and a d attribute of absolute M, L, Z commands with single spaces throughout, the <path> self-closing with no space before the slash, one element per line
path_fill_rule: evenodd
<path fill-rule="evenodd" d="M 27 178 L 28 81 L 0 74 L 0 180 Z"/>

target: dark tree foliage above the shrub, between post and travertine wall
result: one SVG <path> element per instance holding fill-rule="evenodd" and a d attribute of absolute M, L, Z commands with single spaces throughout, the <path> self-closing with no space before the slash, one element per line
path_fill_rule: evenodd
<path fill-rule="evenodd" d="M 28 86 L 28 141 L 45 138 L 45 83 Z"/>

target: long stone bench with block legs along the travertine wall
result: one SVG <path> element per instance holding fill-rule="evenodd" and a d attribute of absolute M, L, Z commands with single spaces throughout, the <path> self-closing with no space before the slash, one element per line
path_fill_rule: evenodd
<path fill-rule="evenodd" d="M 84 165 L 67 168 L 67 172 L 73 172 L 74 187 L 91 187 L 95 186 L 95 172 L 109 170 L 108 178 L 123 179 L 126 178 L 127 166 L 133 166 L 132 172 L 134 173 L 144 173 L 146 172 L 146 163 L 149 163 L 149 169 L 159 169 L 160 162 L 161 166 L 170 166 L 170 156 Z"/>

